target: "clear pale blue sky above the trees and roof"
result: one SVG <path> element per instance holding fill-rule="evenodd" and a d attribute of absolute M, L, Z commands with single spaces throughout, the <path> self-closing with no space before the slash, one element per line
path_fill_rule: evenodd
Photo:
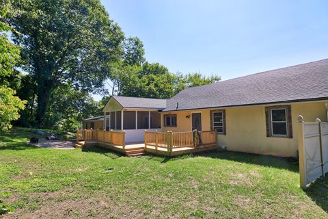
<path fill-rule="evenodd" d="M 102 0 L 148 62 L 222 80 L 328 58 L 328 1 Z"/>

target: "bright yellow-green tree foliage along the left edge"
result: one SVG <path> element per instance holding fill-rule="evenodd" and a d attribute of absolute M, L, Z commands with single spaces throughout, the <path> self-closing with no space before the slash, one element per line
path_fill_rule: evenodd
<path fill-rule="evenodd" d="M 20 49 L 8 40 L 7 32 L 12 28 L 3 21 L 10 4 L 7 1 L 0 3 L 0 130 L 10 129 L 12 120 L 19 118 L 19 110 L 24 109 L 25 101 L 21 101 L 15 90 L 8 88 L 8 78 L 14 73 L 14 66 L 20 60 Z"/>

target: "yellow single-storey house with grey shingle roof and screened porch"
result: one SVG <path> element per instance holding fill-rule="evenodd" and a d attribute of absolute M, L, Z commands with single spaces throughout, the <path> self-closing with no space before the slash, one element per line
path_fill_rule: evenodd
<path fill-rule="evenodd" d="M 148 131 L 215 131 L 230 151 L 297 156 L 297 116 L 327 121 L 328 59 L 187 88 L 171 99 L 111 96 L 106 130 L 126 132 L 126 142 Z"/>

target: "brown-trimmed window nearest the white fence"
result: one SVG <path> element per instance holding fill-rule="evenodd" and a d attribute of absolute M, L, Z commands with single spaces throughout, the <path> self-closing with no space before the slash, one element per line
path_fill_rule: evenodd
<path fill-rule="evenodd" d="M 266 107 L 267 136 L 292 138 L 290 105 Z"/>

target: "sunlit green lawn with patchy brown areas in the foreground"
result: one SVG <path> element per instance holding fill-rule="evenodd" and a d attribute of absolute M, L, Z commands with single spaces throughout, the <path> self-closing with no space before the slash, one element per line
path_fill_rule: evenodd
<path fill-rule="evenodd" d="M 122 157 L 39 149 L 0 133 L 4 218 L 328 218 L 328 177 L 299 187 L 297 164 L 247 153 Z"/>

